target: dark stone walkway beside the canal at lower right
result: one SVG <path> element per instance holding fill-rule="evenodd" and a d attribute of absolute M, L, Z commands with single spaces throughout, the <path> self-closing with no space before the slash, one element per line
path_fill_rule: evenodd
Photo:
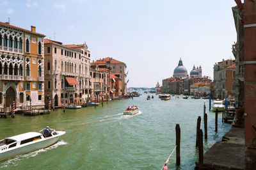
<path fill-rule="evenodd" d="M 232 127 L 204 153 L 204 164 L 196 169 L 245 169 L 244 128 Z"/>

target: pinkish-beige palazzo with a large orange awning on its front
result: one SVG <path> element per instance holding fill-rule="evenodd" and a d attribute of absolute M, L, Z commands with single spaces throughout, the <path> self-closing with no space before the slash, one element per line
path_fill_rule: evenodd
<path fill-rule="evenodd" d="M 45 103 L 54 98 L 54 105 L 61 107 L 63 100 L 67 104 L 81 104 L 86 97 L 81 98 L 81 63 L 79 49 L 66 47 L 61 42 L 44 40 L 45 52 Z M 80 83 L 78 83 L 80 82 Z"/>

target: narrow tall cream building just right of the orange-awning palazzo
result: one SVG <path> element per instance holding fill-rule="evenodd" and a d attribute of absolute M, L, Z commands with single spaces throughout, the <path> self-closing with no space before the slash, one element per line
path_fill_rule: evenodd
<path fill-rule="evenodd" d="M 81 51 L 79 54 L 79 64 L 77 65 L 78 71 L 78 82 L 79 82 L 79 98 L 82 103 L 88 102 L 92 87 L 90 84 L 90 51 L 86 43 L 83 44 L 72 44 L 65 45 L 65 47 L 76 49 Z M 77 56 L 78 57 L 78 56 Z"/>

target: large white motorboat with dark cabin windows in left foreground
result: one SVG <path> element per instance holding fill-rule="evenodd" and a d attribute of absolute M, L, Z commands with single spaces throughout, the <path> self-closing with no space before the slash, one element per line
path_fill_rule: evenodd
<path fill-rule="evenodd" d="M 56 143 L 65 131 L 55 131 L 51 129 L 51 136 L 45 137 L 38 132 L 28 132 L 25 134 L 6 137 L 0 141 L 0 161 L 16 155 L 29 153 L 31 151 L 47 148 Z"/>

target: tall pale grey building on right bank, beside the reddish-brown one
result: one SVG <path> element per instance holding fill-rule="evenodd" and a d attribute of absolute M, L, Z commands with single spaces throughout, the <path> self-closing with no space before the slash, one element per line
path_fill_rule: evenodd
<path fill-rule="evenodd" d="M 228 66 L 235 64 L 234 59 L 222 60 L 214 64 L 213 67 L 213 79 L 214 79 L 214 97 L 215 98 L 226 98 L 227 89 L 226 89 L 226 69 Z"/>

